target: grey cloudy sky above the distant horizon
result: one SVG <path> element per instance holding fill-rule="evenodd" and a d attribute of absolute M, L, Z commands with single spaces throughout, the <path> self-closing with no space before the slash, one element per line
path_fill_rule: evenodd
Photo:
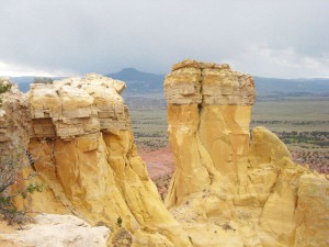
<path fill-rule="evenodd" d="M 184 58 L 329 77 L 328 0 L 0 0 L 0 75 L 166 74 Z"/>

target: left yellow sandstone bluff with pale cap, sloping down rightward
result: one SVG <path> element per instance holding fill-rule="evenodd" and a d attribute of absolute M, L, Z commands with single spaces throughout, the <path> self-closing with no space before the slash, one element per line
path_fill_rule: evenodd
<path fill-rule="evenodd" d="M 26 126 L 15 126 L 32 157 L 21 177 L 30 179 L 12 189 L 27 182 L 43 186 L 41 193 L 15 204 L 106 225 L 113 229 L 109 246 L 191 246 L 136 151 L 128 109 L 120 96 L 124 88 L 122 81 L 87 75 L 32 85 L 14 103 L 8 100 L 14 92 L 4 97 L 4 111 L 18 105 L 30 114 L 24 116 Z M 4 135 L 14 134 L 8 126 L 22 122 L 20 112 L 1 113 Z M 35 171 L 37 177 L 31 177 Z"/>

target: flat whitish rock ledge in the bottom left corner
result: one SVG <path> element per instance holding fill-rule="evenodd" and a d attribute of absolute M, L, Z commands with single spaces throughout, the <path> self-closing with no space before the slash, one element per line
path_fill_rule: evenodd
<path fill-rule="evenodd" d="M 73 215 L 44 214 L 34 217 L 34 223 L 12 234 L 1 234 L 4 240 L 35 247 L 105 247 L 110 229 L 90 226 Z M 1 243 L 1 240 L 0 240 Z M 7 242 L 8 243 L 8 242 Z M 9 244 L 9 243 L 8 243 Z"/>

